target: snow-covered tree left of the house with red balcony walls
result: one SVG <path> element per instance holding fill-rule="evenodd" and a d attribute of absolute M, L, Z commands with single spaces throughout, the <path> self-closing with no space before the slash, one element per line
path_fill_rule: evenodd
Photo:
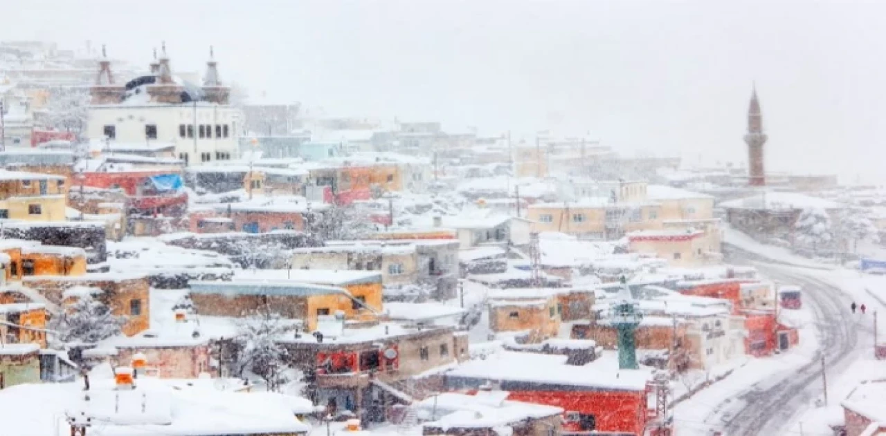
<path fill-rule="evenodd" d="M 289 369 L 290 361 L 289 352 L 276 339 L 293 329 L 293 325 L 269 311 L 242 320 L 235 338 L 239 348 L 237 373 L 241 376 L 245 372 L 255 374 L 265 380 L 268 391 L 276 390 L 280 376 Z"/>

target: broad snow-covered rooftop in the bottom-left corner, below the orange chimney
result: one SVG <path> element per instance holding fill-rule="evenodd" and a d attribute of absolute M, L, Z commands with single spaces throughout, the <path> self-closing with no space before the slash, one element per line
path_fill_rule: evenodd
<path fill-rule="evenodd" d="M 175 389 L 140 378 L 117 390 L 112 379 L 90 377 L 89 400 L 80 383 L 25 384 L 0 391 L 0 422 L 7 434 L 68 434 L 59 417 L 91 417 L 90 436 L 145 434 L 304 433 L 290 405 L 266 395 L 202 388 Z"/>

